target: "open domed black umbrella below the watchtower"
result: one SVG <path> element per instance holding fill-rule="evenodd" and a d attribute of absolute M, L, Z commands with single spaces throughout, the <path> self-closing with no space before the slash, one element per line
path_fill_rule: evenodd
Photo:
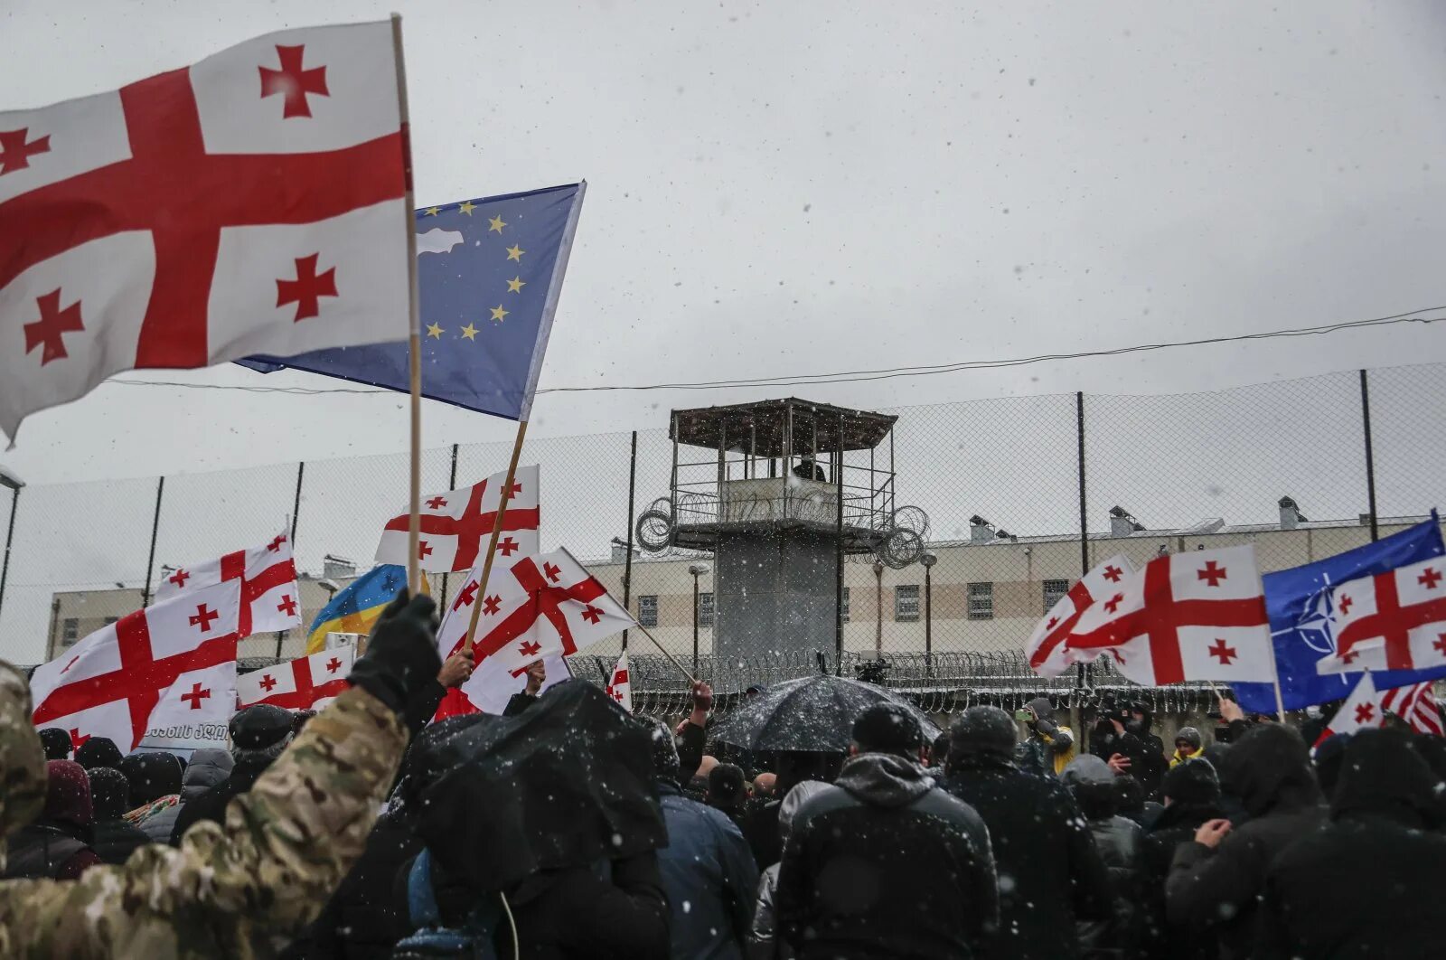
<path fill-rule="evenodd" d="M 918 717 L 925 742 L 938 736 L 924 711 L 884 687 L 827 674 L 775 684 L 749 697 L 709 733 L 746 750 L 842 753 L 849 749 L 855 719 L 876 703 L 907 707 Z"/>

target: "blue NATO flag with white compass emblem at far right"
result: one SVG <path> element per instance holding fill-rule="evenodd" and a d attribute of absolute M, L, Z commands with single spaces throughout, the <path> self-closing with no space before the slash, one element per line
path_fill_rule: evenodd
<path fill-rule="evenodd" d="M 1384 574 L 1406 564 L 1414 564 L 1446 554 L 1436 515 L 1400 533 L 1314 564 L 1265 574 L 1265 613 L 1270 616 L 1271 639 L 1275 643 L 1275 668 L 1280 671 L 1280 694 L 1287 710 L 1299 710 L 1313 703 L 1340 700 L 1355 690 L 1361 674 L 1316 672 L 1316 661 L 1335 653 L 1336 640 L 1330 626 L 1330 590 L 1348 580 Z M 1419 684 L 1446 675 L 1446 669 L 1372 671 L 1377 690 Z M 1246 710 L 1275 713 L 1275 691 L 1270 684 L 1231 684 Z"/>

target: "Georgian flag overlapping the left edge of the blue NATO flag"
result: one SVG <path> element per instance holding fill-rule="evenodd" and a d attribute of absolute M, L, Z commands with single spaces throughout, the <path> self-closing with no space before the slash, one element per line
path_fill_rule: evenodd
<path fill-rule="evenodd" d="M 1137 684 L 1272 681 L 1275 662 L 1255 548 L 1151 560 L 1096 597 L 1066 645 L 1080 659 L 1108 653 Z"/>

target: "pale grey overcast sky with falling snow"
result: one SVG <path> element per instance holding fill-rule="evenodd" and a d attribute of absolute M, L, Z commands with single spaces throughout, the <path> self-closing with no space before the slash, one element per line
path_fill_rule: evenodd
<path fill-rule="evenodd" d="M 401 7 L 418 202 L 587 178 L 542 387 L 1077 351 L 1446 304 L 1446 7 L 7 0 L 0 108 Z M 539 437 L 794 392 L 1209 390 L 1439 360 L 1434 327 L 881 383 L 554 393 Z M 224 367 L 133 379 L 343 386 Z M 427 445 L 512 427 L 429 403 Z M 405 448 L 399 396 L 104 385 L 30 483 Z"/>

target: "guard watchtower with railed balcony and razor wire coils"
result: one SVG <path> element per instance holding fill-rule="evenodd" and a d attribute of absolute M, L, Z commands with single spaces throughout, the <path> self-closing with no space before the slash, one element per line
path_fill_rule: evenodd
<path fill-rule="evenodd" d="M 714 653 L 842 646 L 843 558 L 898 531 L 897 419 L 800 399 L 672 412 L 669 494 L 638 539 L 714 554 Z"/>

